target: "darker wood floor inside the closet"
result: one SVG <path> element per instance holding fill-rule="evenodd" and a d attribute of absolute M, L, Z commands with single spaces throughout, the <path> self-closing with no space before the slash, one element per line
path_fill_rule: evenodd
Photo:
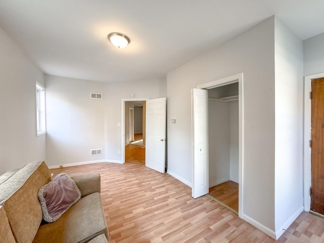
<path fill-rule="evenodd" d="M 209 195 L 238 212 L 238 183 L 226 181 L 209 188 Z"/>

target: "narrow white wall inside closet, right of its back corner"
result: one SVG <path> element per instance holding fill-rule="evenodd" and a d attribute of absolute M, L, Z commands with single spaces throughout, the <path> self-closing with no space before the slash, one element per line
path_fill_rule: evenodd
<path fill-rule="evenodd" d="M 229 102 L 230 180 L 238 183 L 238 100 Z"/>

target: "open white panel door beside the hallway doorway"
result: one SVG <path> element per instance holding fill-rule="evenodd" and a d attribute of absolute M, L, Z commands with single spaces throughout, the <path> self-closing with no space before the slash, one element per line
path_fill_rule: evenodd
<path fill-rule="evenodd" d="M 165 173 L 167 98 L 146 101 L 145 166 Z"/>

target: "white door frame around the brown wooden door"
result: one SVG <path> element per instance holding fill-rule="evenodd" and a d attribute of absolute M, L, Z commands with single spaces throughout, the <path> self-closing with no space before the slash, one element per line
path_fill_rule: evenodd
<path fill-rule="evenodd" d="M 310 191 L 311 186 L 311 149 L 309 147 L 309 140 L 311 136 L 311 100 L 309 92 L 311 91 L 311 81 L 314 78 L 324 77 L 324 73 L 317 73 L 305 76 L 304 83 L 304 211 L 310 211 Z"/>

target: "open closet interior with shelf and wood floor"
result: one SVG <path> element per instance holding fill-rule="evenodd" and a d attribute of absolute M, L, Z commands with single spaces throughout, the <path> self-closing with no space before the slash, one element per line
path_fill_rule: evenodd
<path fill-rule="evenodd" d="M 208 89 L 209 196 L 238 214 L 238 82 Z"/>

